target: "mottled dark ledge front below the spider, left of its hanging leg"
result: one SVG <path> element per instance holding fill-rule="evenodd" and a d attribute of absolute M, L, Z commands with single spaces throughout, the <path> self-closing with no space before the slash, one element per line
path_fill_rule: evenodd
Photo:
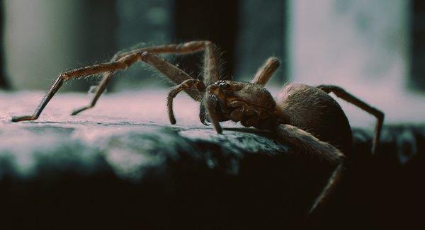
<path fill-rule="evenodd" d="M 16 157 L 2 154 L 0 200 L 10 221 L 3 224 L 291 226 L 330 169 L 257 134 L 149 126 L 96 146 L 63 143 L 29 160 L 31 171 L 22 173 Z"/>

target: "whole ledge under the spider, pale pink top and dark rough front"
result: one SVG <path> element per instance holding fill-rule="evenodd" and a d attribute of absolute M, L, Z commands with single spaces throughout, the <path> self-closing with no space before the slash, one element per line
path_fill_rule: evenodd
<path fill-rule="evenodd" d="M 89 98 L 59 95 L 39 120 L 11 123 L 12 115 L 33 113 L 40 94 L 0 93 L 0 203 L 7 210 L 1 223 L 27 228 L 305 224 L 305 211 L 331 166 L 268 132 L 225 123 L 224 134 L 215 134 L 200 125 L 198 105 L 188 97 L 174 105 L 180 126 L 168 125 L 165 96 L 164 91 L 106 95 L 93 110 L 72 117 L 72 109 Z M 418 175 L 424 175 L 424 130 L 387 127 L 375 156 L 368 150 L 370 133 L 355 130 L 356 154 L 348 159 L 343 183 L 310 225 L 419 223 L 412 210 L 424 205 L 417 200 L 424 191 L 416 189 Z"/>

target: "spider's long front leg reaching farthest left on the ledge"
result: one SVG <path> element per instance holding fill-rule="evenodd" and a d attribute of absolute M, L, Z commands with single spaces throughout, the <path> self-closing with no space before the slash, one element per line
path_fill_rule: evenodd
<path fill-rule="evenodd" d="M 49 103 L 50 99 L 52 99 L 55 93 L 62 86 L 64 81 L 67 81 L 69 79 L 78 79 L 83 76 L 90 76 L 93 74 L 102 74 L 102 73 L 110 73 L 114 71 L 119 71 L 119 70 L 128 68 L 130 65 L 134 64 L 138 60 L 141 60 L 142 62 L 146 62 L 147 64 L 151 64 L 153 67 L 158 69 L 160 72 L 162 72 L 162 74 L 166 76 L 173 76 L 174 77 L 173 79 L 175 79 L 176 81 L 183 82 L 185 80 L 192 79 L 191 76 L 186 74 L 186 72 L 182 71 L 181 69 L 177 68 L 173 64 L 166 62 L 164 59 L 154 54 L 149 54 L 149 52 L 146 52 L 146 51 L 142 53 L 131 53 L 124 57 L 121 57 L 120 59 L 118 59 L 117 62 L 95 64 L 89 67 L 82 67 L 79 69 L 74 69 L 74 70 L 67 71 L 60 74 L 57 77 L 53 86 L 47 92 L 45 98 L 43 98 L 40 105 L 38 105 L 38 108 L 35 110 L 33 115 L 12 117 L 12 121 L 18 122 L 23 120 L 36 120 L 38 116 L 40 115 L 40 113 L 42 112 L 42 110 L 47 105 L 47 103 Z M 198 98 L 201 98 L 199 93 L 198 93 Z"/>

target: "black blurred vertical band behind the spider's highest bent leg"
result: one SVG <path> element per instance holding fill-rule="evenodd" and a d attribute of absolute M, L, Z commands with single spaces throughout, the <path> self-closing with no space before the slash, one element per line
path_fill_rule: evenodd
<path fill-rule="evenodd" d="M 235 64 L 238 1 L 174 0 L 176 42 L 210 40 L 220 47 L 222 76 L 232 76 Z M 202 55 L 176 57 L 180 67 L 194 77 L 202 74 Z"/>

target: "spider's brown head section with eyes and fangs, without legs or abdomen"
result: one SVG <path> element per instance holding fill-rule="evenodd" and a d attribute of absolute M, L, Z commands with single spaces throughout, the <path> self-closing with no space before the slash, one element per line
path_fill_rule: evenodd
<path fill-rule="evenodd" d="M 276 107 L 271 94 L 259 84 L 244 81 L 216 81 L 205 92 L 210 122 L 221 132 L 218 122 L 233 120 L 244 126 L 257 126 L 265 113 Z"/>

